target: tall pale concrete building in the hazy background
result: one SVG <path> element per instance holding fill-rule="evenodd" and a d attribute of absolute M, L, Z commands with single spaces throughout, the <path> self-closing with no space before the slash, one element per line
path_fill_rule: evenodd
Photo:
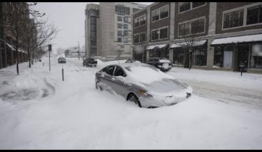
<path fill-rule="evenodd" d="M 123 55 L 131 57 L 133 12 L 144 8 L 139 3 L 89 3 L 85 8 L 85 51 L 87 57 Z"/>

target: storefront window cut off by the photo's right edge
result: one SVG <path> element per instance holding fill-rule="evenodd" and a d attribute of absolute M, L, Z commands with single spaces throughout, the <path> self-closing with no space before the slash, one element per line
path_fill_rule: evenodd
<path fill-rule="evenodd" d="M 262 69 L 262 44 L 252 45 L 250 68 Z"/>

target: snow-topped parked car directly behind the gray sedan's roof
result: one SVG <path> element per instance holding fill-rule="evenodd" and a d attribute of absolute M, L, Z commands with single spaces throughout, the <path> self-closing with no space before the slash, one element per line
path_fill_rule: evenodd
<path fill-rule="evenodd" d="M 163 72 L 167 72 L 172 68 L 171 61 L 163 57 L 152 57 L 149 61 L 146 61 L 145 63 L 159 68 L 159 70 Z"/>

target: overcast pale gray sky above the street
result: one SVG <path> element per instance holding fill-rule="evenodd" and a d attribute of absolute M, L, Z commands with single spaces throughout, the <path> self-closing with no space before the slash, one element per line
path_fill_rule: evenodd
<path fill-rule="evenodd" d="M 99 2 L 91 2 L 97 3 Z M 145 5 L 150 5 L 152 2 L 140 2 Z M 50 23 L 54 23 L 61 30 L 56 39 L 52 41 L 53 50 L 57 48 L 67 48 L 70 46 L 80 47 L 85 44 L 85 5 L 80 2 L 39 2 L 34 6 L 34 10 L 45 12 L 45 17 L 48 17 Z"/>

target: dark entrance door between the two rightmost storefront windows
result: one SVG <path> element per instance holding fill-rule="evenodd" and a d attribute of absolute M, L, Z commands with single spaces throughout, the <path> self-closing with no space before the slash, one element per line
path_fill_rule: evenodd
<path fill-rule="evenodd" d="M 244 70 L 243 71 L 247 71 L 248 70 L 248 53 L 250 50 L 250 47 L 248 45 L 240 45 L 238 46 L 238 59 L 237 59 L 237 71 L 241 70 L 241 65 L 244 66 Z"/>

